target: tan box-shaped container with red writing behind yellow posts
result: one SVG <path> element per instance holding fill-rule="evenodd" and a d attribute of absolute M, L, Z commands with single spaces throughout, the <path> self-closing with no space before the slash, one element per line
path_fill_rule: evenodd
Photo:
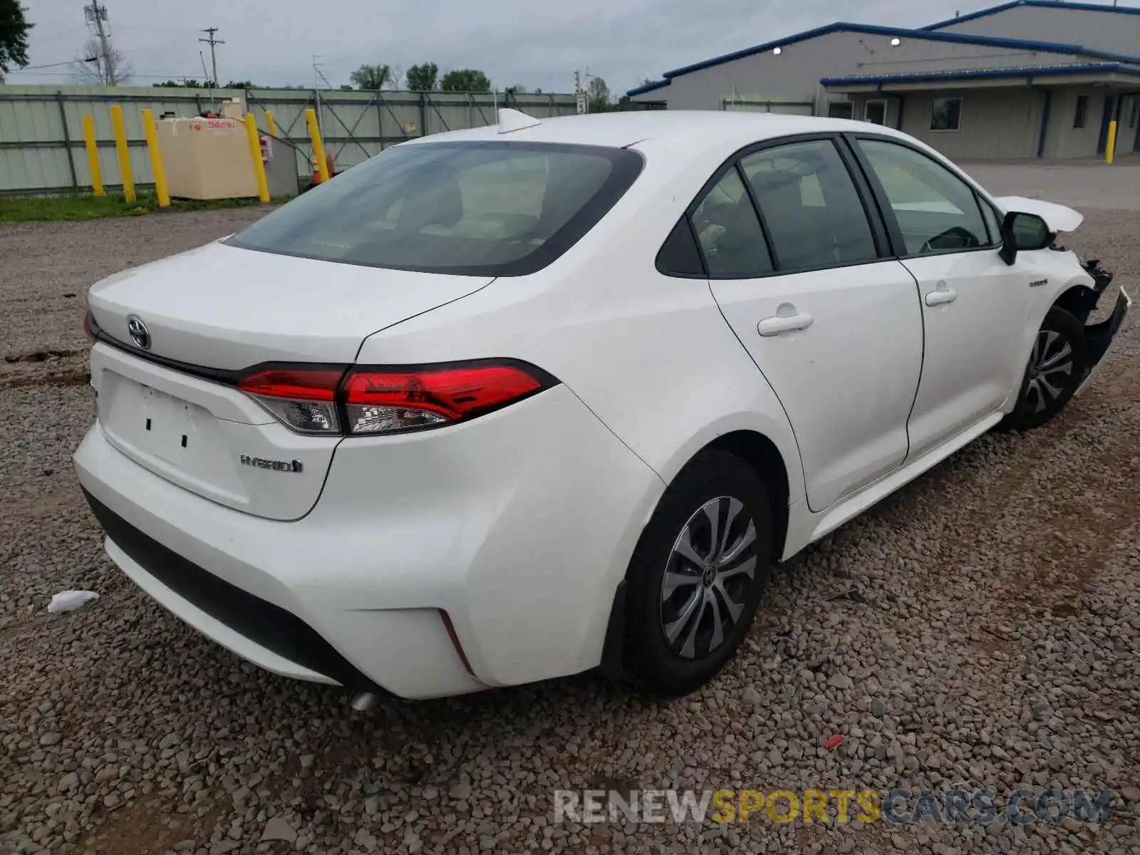
<path fill-rule="evenodd" d="M 158 145 L 170 195 L 178 198 L 256 196 L 245 125 L 237 119 L 164 119 Z"/>

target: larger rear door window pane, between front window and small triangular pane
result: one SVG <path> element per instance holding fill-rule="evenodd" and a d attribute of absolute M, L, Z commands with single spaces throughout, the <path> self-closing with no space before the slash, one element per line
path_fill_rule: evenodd
<path fill-rule="evenodd" d="M 781 271 L 878 258 L 858 192 L 830 139 L 766 148 L 740 165 Z"/>

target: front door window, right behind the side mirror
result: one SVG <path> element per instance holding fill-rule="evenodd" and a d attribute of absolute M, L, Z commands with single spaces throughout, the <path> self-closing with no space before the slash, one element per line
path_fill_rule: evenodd
<path fill-rule="evenodd" d="M 977 196 L 966 181 L 913 148 L 858 140 L 895 213 L 907 255 L 990 246 Z"/>

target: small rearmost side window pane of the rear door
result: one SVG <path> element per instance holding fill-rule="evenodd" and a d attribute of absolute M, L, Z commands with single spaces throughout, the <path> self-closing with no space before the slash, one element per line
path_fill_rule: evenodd
<path fill-rule="evenodd" d="M 735 168 L 697 205 L 692 222 L 710 277 L 748 278 L 772 272 L 760 220 Z"/>

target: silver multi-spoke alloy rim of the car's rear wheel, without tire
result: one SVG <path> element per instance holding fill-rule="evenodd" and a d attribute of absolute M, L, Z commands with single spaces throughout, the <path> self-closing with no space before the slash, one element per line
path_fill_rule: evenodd
<path fill-rule="evenodd" d="M 739 499 L 706 502 L 681 529 L 661 579 L 661 628 L 685 659 L 720 648 L 756 578 L 756 522 Z"/>

